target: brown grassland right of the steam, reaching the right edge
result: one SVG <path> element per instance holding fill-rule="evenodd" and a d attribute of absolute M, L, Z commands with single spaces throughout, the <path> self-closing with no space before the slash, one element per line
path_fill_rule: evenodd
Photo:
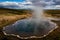
<path fill-rule="evenodd" d="M 45 10 L 46 17 L 60 18 L 60 10 Z"/>

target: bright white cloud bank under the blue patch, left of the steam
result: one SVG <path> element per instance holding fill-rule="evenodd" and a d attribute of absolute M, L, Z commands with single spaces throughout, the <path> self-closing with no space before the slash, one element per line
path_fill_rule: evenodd
<path fill-rule="evenodd" d="M 28 4 L 28 5 L 26 5 Z M 13 9 L 22 9 L 22 8 L 30 8 L 32 3 L 30 2 L 0 2 L 0 7 L 4 8 L 13 8 Z"/>

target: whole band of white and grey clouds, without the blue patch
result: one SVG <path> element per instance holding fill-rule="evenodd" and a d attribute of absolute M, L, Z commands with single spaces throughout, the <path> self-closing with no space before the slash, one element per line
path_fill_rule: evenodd
<path fill-rule="evenodd" d="M 53 5 L 55 2 L 48 1 L 46 2 L 45 0 L 27 0 L 24 2 L 0 2 L 0 7 L 5 7 L 5 8 L 13 8 L 13 9 L 23 9 L 23 8 L 33 8 L 33 5 L 35 6 L 40 6 L 43 5 L 45 9 L 58 9 L 60 8 L 60 5 Z M 57 8 L 58 7 L 58 8 Z"/>

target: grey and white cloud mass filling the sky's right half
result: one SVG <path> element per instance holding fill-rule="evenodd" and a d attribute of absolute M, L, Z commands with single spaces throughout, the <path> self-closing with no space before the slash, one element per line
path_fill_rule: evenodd
<path fill-rule="evenodd" d="M 54 2 L 53 0 L 27 0 L 33 3 L 33 5 L 35 6 L 39 6 L 42 5 L 44 6 L 44 9 L 60 9 L 60 5 L 56 5 L 56 2 L 60 2 L 60 0 L 55 0 L 56 2 Z"/>

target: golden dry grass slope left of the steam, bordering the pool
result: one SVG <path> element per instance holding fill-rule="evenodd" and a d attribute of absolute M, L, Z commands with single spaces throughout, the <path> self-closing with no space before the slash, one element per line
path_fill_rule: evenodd
<path fill-rule="evenodd" d="M 0 15 L 0 27 L 14 23 L 19 19 L 24 19 L 27 17 L 28 17 L 27 14 L 26 15 L 10 15 L 10 16 Z"/>

